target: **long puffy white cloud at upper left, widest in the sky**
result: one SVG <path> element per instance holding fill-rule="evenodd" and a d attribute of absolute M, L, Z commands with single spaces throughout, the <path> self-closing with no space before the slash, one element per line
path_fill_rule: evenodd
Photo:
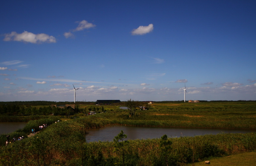
<path fill-rule="evenodd" d="M 30 42 L 30 43 L 55 43 L 56 39 L 53 36 L 49 36 L 45 33 L 34 34 L 31 32 L 24 31 L 23 33 L 11 32 L 5 34 L 4 41 L 19 41 L 19 42 Z"/>

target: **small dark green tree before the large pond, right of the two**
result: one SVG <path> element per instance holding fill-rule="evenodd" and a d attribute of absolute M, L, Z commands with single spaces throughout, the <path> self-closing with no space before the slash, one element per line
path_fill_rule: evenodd
<path fill-rule="evenodd" d="M 162 150 L 162 155 L 165 158 L 165 164 L 167 166 L 168 166 L 168 153 L 172 149 L 171 145 L 172 145 L 172 142 L 170 140 L 168 140 L 168 136 L 166 134 L 164 134 L 160 140 L 160 147 Z"/>

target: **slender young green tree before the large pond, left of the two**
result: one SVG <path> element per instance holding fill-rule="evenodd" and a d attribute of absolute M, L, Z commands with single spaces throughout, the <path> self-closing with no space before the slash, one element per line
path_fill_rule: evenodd
<path fill-rule="evenodd" d="M 124 146 L 126 146 L 129 141 L 124 141 L 127 138 L 127 135 L 123 133 L 123 130 L 115 136 L 114 138 L 114 152 L 121 152 L 123 158 L 123 166 L 124 166 Z"/>

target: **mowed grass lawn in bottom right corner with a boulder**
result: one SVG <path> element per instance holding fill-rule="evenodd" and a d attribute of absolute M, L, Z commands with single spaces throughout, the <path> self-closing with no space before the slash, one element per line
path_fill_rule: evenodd
<path fill-rule="evenodd" d="M 205 160 L 207 161 L 207 160 Z M 205 164 L 204 161 L 189 164 L 190 166 L 200 166 L 200 165 L 211 165 L 211 166 L 251 166 L 256 165 L 256 151 L 240 153 L 237 155 L 231 155 L 226 157 L 214 158 L 210 161 L 210 164 Z"/>

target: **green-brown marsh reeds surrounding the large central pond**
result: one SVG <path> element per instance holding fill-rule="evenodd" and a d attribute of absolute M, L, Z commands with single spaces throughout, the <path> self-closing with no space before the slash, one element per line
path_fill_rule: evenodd
<path fill-rule="evenodd" d="M 137 110 L 133 116 L 129 116 L 128 110 L 119 109 L 119 106 L 104 106 L 105 113 L 76 116 L 58 123 L 55 121 L 60 117 L 49 116 L 29 121 L 23 130 L 10 133 L 11 138 L 25 135 L 32 126 L 47 121 L 50 125 L 36 136 L 5 146 L 6 135 L 1 135 L 0 165 L 185 165 L 211 157 L 250 152 L 256 149 L 256 133 L 180 138 L 163 136 L 159 139 L 129 140 L 125 146 L 113 141 L 86 143 L 85 138 L 88 130 L 113 124 L 255 130 L 255 104 L 154 103 L 149 110 Z M 79 109 L 88 107 L 92 105 L 78 105 Z M 122 133 L 122 136 L 125 137 L 125 134 Z M 122 136 L 119 135 L 116 140 L 123 139 Z"/>

